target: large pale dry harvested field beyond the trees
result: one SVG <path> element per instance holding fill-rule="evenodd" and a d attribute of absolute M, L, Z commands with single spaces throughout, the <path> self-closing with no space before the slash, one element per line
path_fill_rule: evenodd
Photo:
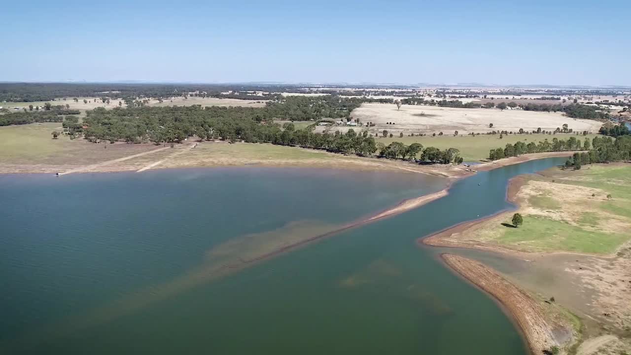
<path fill-rule="evenodd" d="M 423 116 L 422 116 L 423 115 Z M 372 132 L 387 129 L 391 133 L 439 133 L 459 134 L 470 132 L 487 133 L 488 131 L 533 131 L 537 128 L 554 130 L 567 123 L 574 131 L 598 131 L 601 123 L 587 119 L 573 119 L 560 113 L 532 112 L 521 110 L 498 109 L 454 109 L 425 105 L 402 105 L 397 110 L 391 104 L 362 104 L 353 110 L 352 116 L 362 123 L 372 122 Z M 393 124 L 386 124 L 392 122 Z M 493 123 L 493 128 L 488 124 Z"/>

